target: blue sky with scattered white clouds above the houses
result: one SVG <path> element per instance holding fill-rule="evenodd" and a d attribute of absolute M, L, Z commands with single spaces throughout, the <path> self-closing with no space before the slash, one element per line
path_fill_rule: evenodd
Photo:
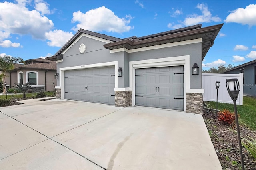
<path fill-rule="evenodd" d="M 0 55 L 52 56 L 80 28 L 126 38 L 221 23 L 203 69 L 256 59 L 255 0 L 0 0 Z"/>

